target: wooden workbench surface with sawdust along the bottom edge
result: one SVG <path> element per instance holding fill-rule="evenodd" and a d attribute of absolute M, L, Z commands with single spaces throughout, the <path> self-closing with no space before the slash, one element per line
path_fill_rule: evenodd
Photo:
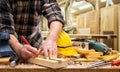
<path fill-rule="evenodd" d="M 69 65 L 65 68 L 50 69 L 34 64 L 19 64 L 15 67 L 9 65 L 0 65 L 0 72 L 120 72 L 120 67 L 111 67 L 110 65 L 88 69 L 86 65 Z"/>

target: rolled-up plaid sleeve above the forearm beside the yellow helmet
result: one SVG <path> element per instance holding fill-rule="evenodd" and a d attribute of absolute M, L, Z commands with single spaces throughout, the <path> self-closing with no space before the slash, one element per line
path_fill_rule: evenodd
<path fill-rule="evenodd" d="M 42 13 L 48 20 L 48 26 L 50 26 L 50 23 L 52 21 L 60 21 L 64 26 L 65 21 L 56 0 L 44 0 L 44 4 L 42 6 Z"/>

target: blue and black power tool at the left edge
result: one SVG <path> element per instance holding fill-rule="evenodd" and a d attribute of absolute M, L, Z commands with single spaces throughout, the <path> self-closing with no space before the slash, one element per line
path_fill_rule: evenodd
<path fill-rule="evenodd" d="M 10 57 L 10 66 L 15 66 L 19 61 L 19 57 L 9 45 L 10 34 L 0 32 L 0 57 Z"/>

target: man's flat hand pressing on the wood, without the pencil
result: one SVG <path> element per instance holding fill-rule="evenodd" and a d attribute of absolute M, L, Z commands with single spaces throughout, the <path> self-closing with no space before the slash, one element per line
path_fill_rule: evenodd
<path fill-rule="evenodd" d="M 46 58 L 57 57 L 57 45 L 52 40 L 45 41 L 39 48 L 39 53 L 43 53 Z"/>

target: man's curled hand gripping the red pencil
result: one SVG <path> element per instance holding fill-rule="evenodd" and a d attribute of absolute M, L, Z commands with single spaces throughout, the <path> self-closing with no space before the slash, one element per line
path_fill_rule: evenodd
<path fill-rule="evenodd" d="M 23 45 L 23 47 L 19 51 L 19 55 L 24 60 L 27 60 L 31 57 L 38 56 L 38 54 L 39 54 L 39 52 L 38 52 L 37 48 L 34 48 L 30 45 Z"/>

